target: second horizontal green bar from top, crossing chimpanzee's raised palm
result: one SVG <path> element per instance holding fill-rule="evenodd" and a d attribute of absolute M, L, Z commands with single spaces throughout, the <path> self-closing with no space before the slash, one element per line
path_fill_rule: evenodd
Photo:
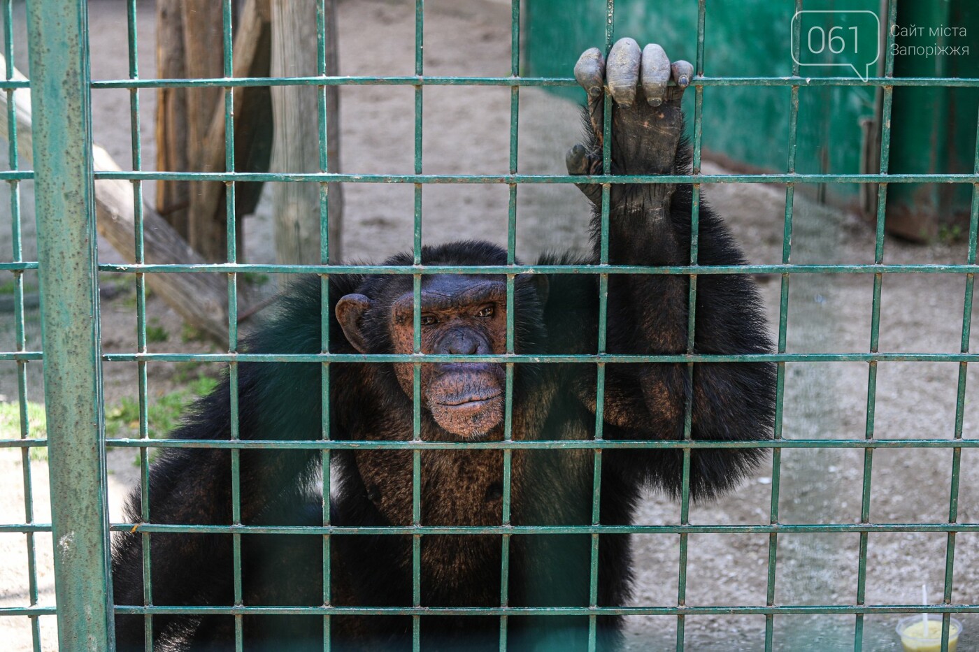
<path fill-rule="evenodd" d="M 9 172 L 14 174 L 15 172 Z M 0 176 L 0 179 L 3 177 Z M 344 174 L 99 170 L 96 180 L 303 181 L 306 183 L 979 183 L 979 174 Z"/>

